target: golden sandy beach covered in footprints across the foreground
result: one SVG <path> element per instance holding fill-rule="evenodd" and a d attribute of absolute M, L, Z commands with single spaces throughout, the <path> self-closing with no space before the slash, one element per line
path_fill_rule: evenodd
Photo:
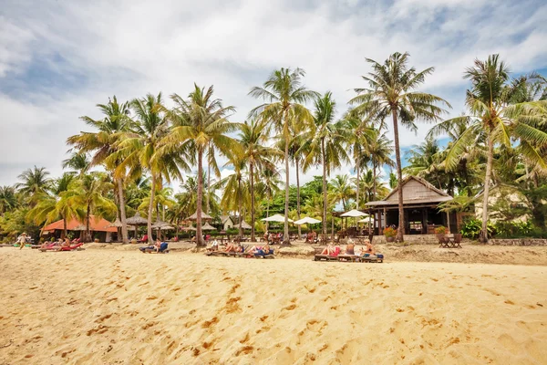
<path fill-rule="evenodd" d="M 547 266 L 0 251 L 0 364 L 547 361 Z"/>

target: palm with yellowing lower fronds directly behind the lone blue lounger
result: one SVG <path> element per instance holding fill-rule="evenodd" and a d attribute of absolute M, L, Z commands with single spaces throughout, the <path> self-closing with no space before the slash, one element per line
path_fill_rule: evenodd
<path fill-rule="evenodd" d="M 131 129 L 120 133 L 118 151 L 107 158 L 108 163 L 119 162 L 115 174 L 128 171 L 129 176 L 138 176 L 142 170 L 150 172 L 151 192 L 148 209 L 147 232 L 152 241 L 152 213 L 154 194 L 165 180 L 181 178 L 181 169 L 189 170 L 183 151 L 164 149 L 163 139 L 170 133 L 170 121 L 164 113 L 161 93 L 148 94 L 143 99 L 133 99 L 130 108 L 134 114 Z"/>

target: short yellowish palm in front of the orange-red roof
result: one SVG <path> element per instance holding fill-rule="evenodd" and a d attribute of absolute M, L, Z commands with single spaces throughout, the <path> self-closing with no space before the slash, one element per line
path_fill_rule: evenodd
<path fill-rule="evenodd" d="M 104 214 L 116 214 L 116 204 L 108 199 L 107 193 L 112 190 L 112 184 L 104 173 L 91 172 L 83 175 L 67 190 L 65 198 L 72 209 L 81 209 L 85 213 L 86 234 L 84 242 L 91 240 L 90 217 L 102 217 Z"/>

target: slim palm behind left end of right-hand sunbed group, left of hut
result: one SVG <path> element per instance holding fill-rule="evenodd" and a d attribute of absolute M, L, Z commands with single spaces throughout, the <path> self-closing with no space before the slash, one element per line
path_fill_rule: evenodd
<path fill-rule="evenodd" d="M 325 95 L 315 99 L 314 122 L 315 130 L 310 132 L 310 139 L 306 142 L 308 154 L 304 160 L 304 166 L 312 163 L 320 163 L 323 166 L 323 235 L 326 235 L 326 208 L 327 186 L 326 176 L 330 176 L 332 169 L 342 165 L 348 160 L 345 150 L 347 132 L 344 122 L 335 122 L 336 103 L 332 99 L 332 93 L 327 91 Z"/>

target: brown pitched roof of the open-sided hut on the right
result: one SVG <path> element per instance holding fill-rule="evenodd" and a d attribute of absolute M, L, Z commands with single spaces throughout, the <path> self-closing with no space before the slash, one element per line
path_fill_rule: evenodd
<path fill-rule="evenodd" d="M 418 176 L 408 176 L 401 183 L 403 189 L 403 204 L 441 203 L 452 200 L 448 193 L 445 193 L 426 180 Z M 391 191 L 383 200 L 368 202 L 367 206 L 397 205 L 399 186 Z"/>

